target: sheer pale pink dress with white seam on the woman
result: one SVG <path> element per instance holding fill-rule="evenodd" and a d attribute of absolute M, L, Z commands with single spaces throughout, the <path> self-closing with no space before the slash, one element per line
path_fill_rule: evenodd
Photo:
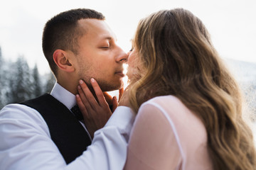
<path fill-rule="evenodd" d="M 152 98 L 135 118 L 124 169 L 213 169 L 206 128 L 178 98 Z"/>

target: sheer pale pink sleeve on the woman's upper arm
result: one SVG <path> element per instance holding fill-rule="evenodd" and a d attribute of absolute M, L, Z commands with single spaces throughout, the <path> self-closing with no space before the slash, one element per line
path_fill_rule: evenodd
<path fill-rule="evenodd" d="M 181 152 L 168 120 L 151 104 L 139 109 L 124 169 L 178 169 Z"/>

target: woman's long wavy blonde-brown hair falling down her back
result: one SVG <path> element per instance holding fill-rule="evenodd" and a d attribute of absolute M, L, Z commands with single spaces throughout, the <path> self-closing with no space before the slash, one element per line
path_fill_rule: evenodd
<path fill-rule="evenodd" d="M 155 96 L 176 96 L 205 125 L 214 169 L 256 169 L 240 89 L 200 19 L 183 8 L 153 13 L 139 22 L 134 48 L 145 70 L 127 88 L 135 112 Z"/>

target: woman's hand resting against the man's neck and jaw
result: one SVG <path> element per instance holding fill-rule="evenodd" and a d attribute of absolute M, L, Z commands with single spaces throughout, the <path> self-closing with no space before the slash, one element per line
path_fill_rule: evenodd
<path fill-rule="evenodd" d="M 112 115 L 112 111 L 110 111 L 110 107 L 105 99 L 105 96 L 108 95 L 107 100 L 110 100 L 110 95 L 105 94 L 104 96 L 95 79 L 91 79 L 90 82 L 95 91 L 97 100 L 95 99 L 95 96 L 92 95 L 92 92 L 85 82 L 80 80 L 80 86 L 78 86 L 79 95 L 76 95 L 76 101 L 82 112 L 85 126 L 90 133 L 90 136 L 93 138 L 94 132 L 107 123 L 107 120 Z M 112 103 L 113 108 L 117 108 L 116 96 L 112 98 Z"/>

